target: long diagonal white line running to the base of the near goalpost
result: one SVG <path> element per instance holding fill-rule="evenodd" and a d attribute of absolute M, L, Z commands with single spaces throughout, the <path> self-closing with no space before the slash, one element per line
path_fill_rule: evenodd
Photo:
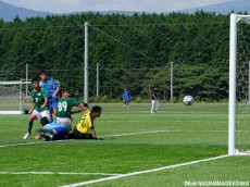
<path fill-rule="evenodd" d="M 127 173 L 127 174 L 121 174 L 116 176 L 110 176 L 105 178 L 100 178 L 100 179 L 93 179 L 93 180 L 88 180 L 88 182 L 83 182 L 83 183 L 76 183 L 76 184 L 71 184 L 71 185 L 64 185 L 60 187 L 78 187 L 78 186 L 85 186 L 89 184 L 96 184 L 96 183 L 101 183 L 101 182 L 107 182 L 107 180 L 113 180 L 117 178 L 123 178 L 127 176 L 135 176 L 135 175 L 140 175 L 140 174 L 146 174 L 146 173 L 152 173 L 152 172 L 159 172 L 159 171 L 164 171 L 164 170 L 170 170 L 170 169 L 175 169 L 175 167 L 180 167 L 180 166 L 186 166 L 186 165 L 192 165 L 201 162 L 208 162 L 208 161 L 213 161 L 213 160 L 218 160 L 218 159 L 224 159 L 229 157 L 228 154 L 225 155 L 218 155 L 215 158 L 210 158 L 210 159 L 203 159 L 203 160 L 198 160 L 198 161 L 191 161 L 191 162 L 186 162 L 186 163 L 180 163 L 180 164 L 174 164 L 174 165 L 168 165 L 168 166 L 163 166 L 163 167 L 158 167 L 158 169 L 152 169 L 152 170 L 146 170 L 146 171 L 140 171 L 140 172 L 133 172 L 133 173 Z"/>

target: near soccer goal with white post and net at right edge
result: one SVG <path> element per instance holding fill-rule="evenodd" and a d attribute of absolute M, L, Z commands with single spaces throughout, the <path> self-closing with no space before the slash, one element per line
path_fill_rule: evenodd
<path fill-rule="evenodd" d="M 230 14 L 228 154 L 250 155 L 250 15 Z"/>

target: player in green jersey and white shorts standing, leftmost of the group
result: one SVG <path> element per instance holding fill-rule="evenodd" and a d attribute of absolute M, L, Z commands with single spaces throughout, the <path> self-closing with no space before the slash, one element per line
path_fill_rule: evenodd
<path fill-rule="evenodd" d="M 48 96 L 45 89 L 39 86 L 39 79 L 33 78 L 32 79 L 32 101 L 33 105 L 32 109 L 28 111 L 30 115 L 28 121 L 28 132 L 25 134 L 24 139 L 27 139 L 32 134 L 33 122 L 36 119 L 41 119 L 47 116 L 50 120 L 50 111 L 48 107 Z"/>

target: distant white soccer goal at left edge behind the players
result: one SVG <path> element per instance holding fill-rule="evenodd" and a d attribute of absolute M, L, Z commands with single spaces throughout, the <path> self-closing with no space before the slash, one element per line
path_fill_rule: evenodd
<path fill-rule="evenodd" d="M 28 85 L 30 82 L 0 82 L 0 114 L 21 114 L 23 109 L 30 105 L 30 95 L 25 92 L 25 86 Z"/>

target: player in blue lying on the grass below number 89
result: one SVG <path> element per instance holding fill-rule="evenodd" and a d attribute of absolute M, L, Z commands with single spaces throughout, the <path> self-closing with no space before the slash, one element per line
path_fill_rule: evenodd
<path fill-rule="evenodd" d="M 42 128 L 36 129 L 37 133 L 40 133 L 36 136 L 36 139 L 40 139 L 41 137 L 43 137 L 45 140 L 50 141 L 68 138 L 67 129 L 62 125 L 57 124 L 55 121 L 50 123 L 49 120 L 45 116 L 40 120 L 40 123 Z M 49 133 L 50 135 L 47 135 L 46 133 Z"/>

